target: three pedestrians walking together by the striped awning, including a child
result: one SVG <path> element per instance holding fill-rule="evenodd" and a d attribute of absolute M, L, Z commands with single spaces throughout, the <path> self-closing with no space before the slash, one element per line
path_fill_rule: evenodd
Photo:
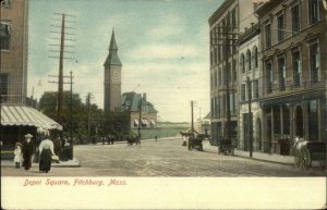
<path fill-rule="evenodd" d="M 38 146 L 39 153 L 39 171 L 48 173 L 51 169 L 52 159 L 56 159 L 53 150 L 53 143 L 49 139 L 49 131 L 44 131 L 41 134 L 41 141 Z M 25 170 L 32 168 L 32 157 L 34 155 L 33 135 L 26 134 L 23 144 L 16 143 L 14 149 L 15 168 L 20 169 L 21 163 Z"/>

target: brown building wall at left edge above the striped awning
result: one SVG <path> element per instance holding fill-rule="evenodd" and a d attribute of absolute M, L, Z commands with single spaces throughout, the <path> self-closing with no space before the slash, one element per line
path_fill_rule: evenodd
<path fill-rule="evenodd" d="M 1 1 L 1 103 L 25 104 L 27 96 L 28 0 Z"/>

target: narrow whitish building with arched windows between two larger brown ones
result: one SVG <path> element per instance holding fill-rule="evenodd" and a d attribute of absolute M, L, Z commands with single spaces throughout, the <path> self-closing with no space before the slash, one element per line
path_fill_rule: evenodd
<path fill-rule="evenodd" d="M 239 36 L 239 148 L 245 151 L 250 150 L 250 137 L 254 150 L 262 148 L 259 61 L 259 29 L 255 23 Z"/>

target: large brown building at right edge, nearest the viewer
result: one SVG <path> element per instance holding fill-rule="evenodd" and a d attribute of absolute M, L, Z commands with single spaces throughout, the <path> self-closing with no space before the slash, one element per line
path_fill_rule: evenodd
<path fill-rule="evenodd" d="M 274 0 L 256 10 L 261 25 L 263 150 L 281 138 L 326 140 L 325 0 Z"/>

